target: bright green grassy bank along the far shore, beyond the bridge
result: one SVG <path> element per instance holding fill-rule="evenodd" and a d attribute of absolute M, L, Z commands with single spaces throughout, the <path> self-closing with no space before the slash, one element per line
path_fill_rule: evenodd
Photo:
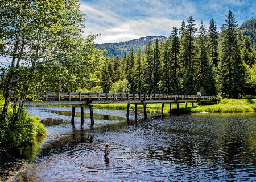
<path fill-rule="evenodd" d="M 135 108 L 135 105 L 131 104 L 130 107 Z M 126 110 L 127 104 L 94 104 L 93 108 L 97 109 L 118 109 Z M 186 107 L 185 103 L 179 104 L 180 113 L 190 112 L 255 112 L 256 100 L 253 99 L 220 99 L 219 104 L 214 105 L 198 105 L 192 106 L 189 103 Z M 147 112 L 161 112 L 162 104 L 147 104 Z M 138 111 L 143 111 L 143 105 L 138 105 Z M 164 104 L 164 113 L 169 113 L 169 104 Z M 177 105 L 171 105 L 171 112 L 177 113 Z"/>

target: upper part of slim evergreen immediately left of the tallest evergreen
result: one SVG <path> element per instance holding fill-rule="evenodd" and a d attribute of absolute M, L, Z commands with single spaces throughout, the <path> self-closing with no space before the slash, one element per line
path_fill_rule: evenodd
<path fill-rule="evenodd" d="M 210 26 L 209 26 L 209 46 L 210 46 L 210 58 L 212 59 L 212 62 L 215 67 L 218 66 L 218 32 L 217 32 L 217 26 L 214 19 L 210 20 Z"/>

